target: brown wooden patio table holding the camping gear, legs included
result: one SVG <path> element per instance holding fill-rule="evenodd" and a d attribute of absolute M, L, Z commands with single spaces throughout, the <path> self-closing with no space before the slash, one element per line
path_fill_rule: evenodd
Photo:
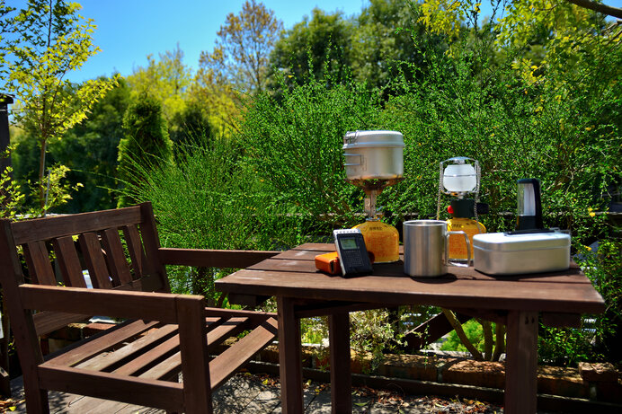
<path fill-rule="evenodd" d="M 351 412 L 350 319 L 362 309 L 396 305 L 441 306 L 507 325 L 504 412 L 536 412 L 538 317 L 551 326 L 578 326 L 582 313 L 605 310 L 581 269 L 511 277 L 449 267 L 442 277 L 408 277 L 402 260 L 375 264 L 365 277 L 329 276 L 315 255 L 334 245 L 307 243 L 223 277 L 217 289 L 238 304 L 276 296 L 282 409 L 302 413 L 300 318 L 329 316 L 333 413 Z M 529 258 L 525 258 L 529 260 Z"/>

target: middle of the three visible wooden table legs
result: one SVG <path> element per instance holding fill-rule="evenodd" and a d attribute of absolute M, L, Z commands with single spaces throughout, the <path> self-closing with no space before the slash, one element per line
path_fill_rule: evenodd
<path fill-rule="evenodd" d="M 352 379 L 350 372 L 350 313 L 328 317 L 331 347 L 331 401 L 333 414 L 352 412 Z"/>

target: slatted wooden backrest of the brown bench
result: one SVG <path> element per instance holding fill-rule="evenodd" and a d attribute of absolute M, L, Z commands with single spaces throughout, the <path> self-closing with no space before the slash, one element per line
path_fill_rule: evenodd
<path fill-rule="evenodd" d="M 0 221 L 0 283 L 12 313 L 23 309 L 17 286 L 169 292 L 150 203 L 33 220 Z M 22 311 L 23 312 L 23 311 Z M 13 313 L 14 314 L 14 313 Z M 93 315 L 26 314 L 40 336 Z M 30 323 L 29 323 L 30 324 Z"/>

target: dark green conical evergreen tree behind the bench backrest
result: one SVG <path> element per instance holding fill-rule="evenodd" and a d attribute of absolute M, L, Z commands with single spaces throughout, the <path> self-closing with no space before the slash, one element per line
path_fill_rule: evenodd
<path fill-rule="evenodd" d="M 144 181 L 154 165 L 172 161 L 173 143 L 168 137 L 162 105 L 148 96 L 129 106 L 123 128 L 126 136 L 119 143 L 118 177 L 132 187 Z M 127 192 L 123 193 L 118 207 L 126 207 L 131 201 Z"/>

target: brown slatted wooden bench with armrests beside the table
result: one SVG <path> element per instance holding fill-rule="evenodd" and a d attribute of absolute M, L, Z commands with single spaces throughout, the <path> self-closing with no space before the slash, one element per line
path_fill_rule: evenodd
<path fill-rule="evenodd" d="M 275 337 L 276 315 L 206 308 L 203 296 L 173 295 L 164 265 L 244 268 L 273 254 L 161 248 L 149 203 L 1 220 L 0 282 L 28 412 L 49 412 L 49 390 L 211 412 L 212 391 Z M 43 357 L 41 335 L 92 315 L 123 322 Z M 242 332 L 248 333 L 219 347 Z M 219 348 L 226 350 L 213 357 Z"/>

